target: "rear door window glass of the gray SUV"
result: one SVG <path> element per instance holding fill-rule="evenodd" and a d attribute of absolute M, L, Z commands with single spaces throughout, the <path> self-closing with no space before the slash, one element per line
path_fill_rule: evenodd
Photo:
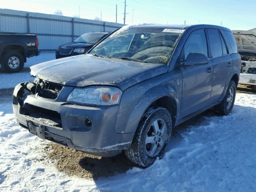
<path fill-rule="evenodd" d="M 208 29 L 208 35 L 210 40 L 212 57 L 222 56 L 222 45 L 219 31 L 217 29 Z"/>

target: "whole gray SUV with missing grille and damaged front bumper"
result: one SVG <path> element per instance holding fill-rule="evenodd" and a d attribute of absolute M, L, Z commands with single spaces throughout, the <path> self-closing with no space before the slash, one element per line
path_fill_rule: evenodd
<path fill-rule="evenodd" d="M 232 111 L 240 68 L 227 28 L 124 26 L 86 55 L 32 66 L 13 110 L 42 139 L 98 156 L 124 151 L 147 167 L 178 124 L 212 107 Z"/>

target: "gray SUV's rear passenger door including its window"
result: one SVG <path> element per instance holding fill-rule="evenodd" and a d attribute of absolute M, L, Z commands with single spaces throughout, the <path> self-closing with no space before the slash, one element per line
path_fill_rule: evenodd
<path fill-rule="evenodd" d="M 232 58 L 224 38 L 218 29 L 207 29 L 210 62 L 213 67 L 213 84 L 210 103 L 214 103 L 221 98 L 226 84 L 232 75 Z"/>

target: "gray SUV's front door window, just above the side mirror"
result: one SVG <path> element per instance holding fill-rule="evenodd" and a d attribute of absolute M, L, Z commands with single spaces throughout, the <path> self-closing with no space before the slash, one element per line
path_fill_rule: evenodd
<path fill-rule="evenodd" d="M 206 57 L 208 56 L 206 37 L 203 29 L 192 32 L 188 37 L 188 40 L 184 45 L 185 59 L 190 53 L 201 53 Z"/>

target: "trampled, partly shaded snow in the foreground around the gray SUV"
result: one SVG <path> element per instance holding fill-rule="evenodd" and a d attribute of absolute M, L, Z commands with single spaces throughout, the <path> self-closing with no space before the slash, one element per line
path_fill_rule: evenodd
<path fill-rule="evenodd" d="M 10 100 L 0 103 L 0 191 L 256 191 L 255 94 L 237 94 L 228 116 L 179 126 L 164 158 L 149 168 L 94 181 L 42 160 L 48 141 L 16 124 Z"/>

